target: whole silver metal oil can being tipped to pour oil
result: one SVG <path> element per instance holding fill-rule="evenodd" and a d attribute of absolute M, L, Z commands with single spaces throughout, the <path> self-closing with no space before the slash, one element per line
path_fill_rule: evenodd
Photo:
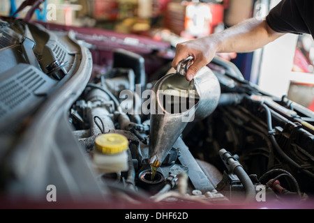
<path fill-rule="evenodd" d="M 200 69 L 191 82 L 175 71 L 159 79 L 151 96 L 149 164 L 156 165 L 156 160 L 162 164 L 186 125 L 209 116 L 219 98 L 218 79 L 208 67 Z"/>

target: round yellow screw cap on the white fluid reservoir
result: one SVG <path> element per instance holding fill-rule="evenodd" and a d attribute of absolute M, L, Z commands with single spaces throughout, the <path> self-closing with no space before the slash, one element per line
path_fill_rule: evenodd
<path fill-rule="evenodd" d="M 101 153 L 117 154 L 128 148 L 128 139 L 121 134 L 100 134 L 95 139 L 96 149 Z"/>

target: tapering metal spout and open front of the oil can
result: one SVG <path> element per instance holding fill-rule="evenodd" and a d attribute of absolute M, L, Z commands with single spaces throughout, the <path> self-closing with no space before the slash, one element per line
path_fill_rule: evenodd
<path fill-rule="evenodd" d="M 182 75 L 174 75 L 160 79 L 155 85 L 156 103 L 151 113 L 151 129 L 149 134 L 149 164 L 160 165 L 169 153 L 175 141 L 192 121 L 195 114 L 195 104 L 198 101 L 196 93 L 188 93 L 182 86 L 174 86 L 172 81 L 180 79 L 188 88 L 189 82 Z M 193 90 L 191 90 L 193 91 Z M 152 97 L 153 98 L 153 97 Z M 154 105 L 153 105 L 154 106 Z"/>

